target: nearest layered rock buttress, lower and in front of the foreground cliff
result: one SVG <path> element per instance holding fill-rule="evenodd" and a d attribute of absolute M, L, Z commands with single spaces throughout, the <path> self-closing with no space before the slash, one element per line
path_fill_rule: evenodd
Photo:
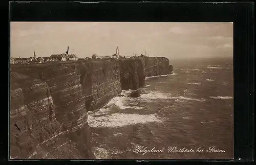
<path fill-rule="evenodd" d="M 10 99 L 11 158 L 89 157 L 90 150 L 87 148 L 90 147 L 90 141 L 84 140 L 89 137 L 88 134 L 79 140 L 69 137 L 72 134 L 77 135 L 78 129 L 76 126 L 63 129 L 66 124 L 57 121 L 57 116 L 60 119 L 61 114 L 56 113 L 58 104 L 54 104 L 47 83 L 11 73 Z M 78 120 L 74 117 L 70 122 L 76 125 Z M 88 126 L 84 125 L 80 129 L 88 132 Z M 84 143 L 86 148 L 79 150 L 77 141 Z"/>

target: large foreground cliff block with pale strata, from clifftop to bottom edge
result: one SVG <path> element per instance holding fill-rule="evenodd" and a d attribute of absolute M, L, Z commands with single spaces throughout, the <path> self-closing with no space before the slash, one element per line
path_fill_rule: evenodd
<path fill-rule="evenodd" d="M 26 86 L 20 78 L 11 77 L 11 86 L 17 86 L 11 89 L 10 100 L 11 158 L 93 158 L 85 97 L 75 66 L 34 73 L 27 69 L 32 78 L 24 78 Z M 38 77 L 40 83 L 34 85 Z M 17 91 L 19 100 L 14 97 Z"/>

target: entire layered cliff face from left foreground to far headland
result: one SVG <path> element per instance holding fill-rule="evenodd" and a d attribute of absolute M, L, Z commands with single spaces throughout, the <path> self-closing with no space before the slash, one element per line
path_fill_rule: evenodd
<path fill-rule="evenodd" d="M 11 67 L 11 158 L 93 159 L 87 112 L 168 74 L 166 58 Z"/>

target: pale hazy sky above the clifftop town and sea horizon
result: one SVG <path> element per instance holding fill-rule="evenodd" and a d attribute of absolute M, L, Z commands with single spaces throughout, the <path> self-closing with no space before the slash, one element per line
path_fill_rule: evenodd
<path fill-rule="evenodd" d="M 168 59 L 233 56 L 232 22 L 11 22 L 11 57 L 67 51 L 77 57 L 145 54 Z"/>

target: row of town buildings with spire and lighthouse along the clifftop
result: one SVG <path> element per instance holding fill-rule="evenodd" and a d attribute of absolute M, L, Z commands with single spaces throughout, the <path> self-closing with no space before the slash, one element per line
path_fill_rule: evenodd
<path fill-rule="evenodd" d="M 146 55 L 146 51 L 145 51 Z M 135 58 L 135 57 L 145 57 L 145 55 L 141 54 L 140 56 L 119 56 L 119 48 L 116 47 L 116 53 L 112 56 L 98 56 L 97 54 L 93 54 L 92 57 L 78 58 L 74 54 L 69 54 L 69 46 L 66 53 L 62 54 L 53 54 L 50 57 L 36 57 L 36 53 L 34 52 L 33 57 L 27 58 L 10 58 L 10 64 L 30 64 L 30 63 L 46 63 L 46 62 L 65 62 L 65 61 L 78 61 L 78 60 L 97 60 L 97 59 L 117 59 L 117 58 Z M 149 55 L 148 55 L 149 56 Z"/>

